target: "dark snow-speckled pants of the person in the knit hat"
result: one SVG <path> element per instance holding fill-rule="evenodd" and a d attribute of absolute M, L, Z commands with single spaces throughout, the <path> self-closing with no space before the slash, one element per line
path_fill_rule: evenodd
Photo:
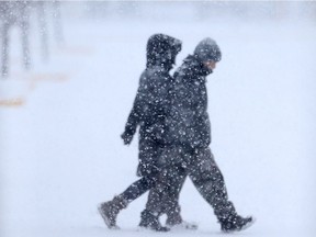
<path fill-rule="evenodd" d="M 166 148 L 159 159 L 161 172 L 151 189 L 146 210 L 151 213 L 172 213 L 179 206 L 179 193 L 189 176 L 194 187 L 213 207 L 218 219 L 236 213 L 228 201 L 223 174 L 210 148 L 184 150 L 182 147 Z"/>

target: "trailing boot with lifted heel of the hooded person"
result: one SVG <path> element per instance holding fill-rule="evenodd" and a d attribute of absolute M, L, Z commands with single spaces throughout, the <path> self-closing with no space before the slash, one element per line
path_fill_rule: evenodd
<path fill-rule="evenodd" d="M 119 228 L 119 226 L 116 226 L 117 214 L 126 206 L 127 201 L 119 195 L 114 196 L 112 201 L 101 203 L 98 207 L 98 211 L 109 228 Z"/>

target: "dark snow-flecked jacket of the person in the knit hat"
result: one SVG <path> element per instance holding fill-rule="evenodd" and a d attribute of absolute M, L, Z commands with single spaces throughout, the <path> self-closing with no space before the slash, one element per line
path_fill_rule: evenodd
<path fill-rule="evenodd" d="M 170 116 L 169 144 L 187 148 L 207 147 L 211 123 L 207 114 L 207 70 L 198 57 L 188 56 L 174 72 Z"/>

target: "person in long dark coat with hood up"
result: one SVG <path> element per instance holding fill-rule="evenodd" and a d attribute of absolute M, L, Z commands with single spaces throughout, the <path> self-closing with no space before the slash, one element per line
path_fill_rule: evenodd
<path fill-rule="evenodd" d="M 121 136 L 124 144 L 129 145 L 139 126 L 137 176 L 142 178 L 112 201 L 99 205 L 98 210 L 109 228 L 117 228 L 119 212 L 151 189 L 157 181 L 159 173 L 157 161 L 166 145 L 163 133 L 170 105 L 169 92 L 173 81 L 169 71 L 180 50 L 181 42 L 171 36 L 155 34 L 148 40 L 146 69 L 140 76 L 134 105 Z M 154 215 L 146 216 L 146 225 L 143 227 L 158 232 L 169 230 Z"/>

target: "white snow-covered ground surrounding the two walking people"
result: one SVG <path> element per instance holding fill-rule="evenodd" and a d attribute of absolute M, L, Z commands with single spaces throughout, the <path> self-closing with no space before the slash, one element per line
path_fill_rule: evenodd
<path fill-rule="evenodd" d="M 48 64 L 34 56 L 29 72 L 12 40 L 14 67 L 0 80 L 0 236 L 224 236 L 190 180 L 180 203 L 196 232 L 138 232 L 147 195 L 121 213 L 121 230 L 109 230 L 97 213 L 137 179 L 137 137 L 125 147 L 120 134 L 154 33 L 183 41 L 178 65 L 206 36 L 223 50 L 207 82 L 211 148 L 230 200 L 257 218 L 238 235 L 315 236 L 315 26 L 297 19 L 68 16 L 65 45 L 52 46 Z"/>

